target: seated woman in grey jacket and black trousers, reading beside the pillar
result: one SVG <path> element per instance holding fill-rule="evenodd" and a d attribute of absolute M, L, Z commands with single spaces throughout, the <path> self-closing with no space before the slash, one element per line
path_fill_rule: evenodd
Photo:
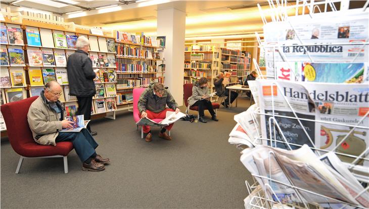
<path fill-rule="evenodd" d="M 206 78 L 201 78 L 199 81 L 197 81 L 194 84 L 194 87 L 192 87 L 192 96 L 189 97 L 188 102 L 189 106 L 199 106 L 199 121 L 206 123 L 206 120 L 204 119 L 204 108 L 206 107 L 210 114 L 211 119 L 218 121 L 216 118 L 213 105 L 211 104 L 210 98 L 207 98 L 206 95 L 208 95 L 209 89 L 208 89 L 208 80 Z"/>

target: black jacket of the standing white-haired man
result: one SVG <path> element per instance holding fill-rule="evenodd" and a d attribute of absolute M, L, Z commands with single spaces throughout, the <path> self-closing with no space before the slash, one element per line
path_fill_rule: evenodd
<path fill-rule="evenodd" d="M 77 50 L 68 57 L 67 63 L 69 94 L 77 97 L 92 97 L 95 95 L 94 79 L 96 74 L 88 54 Z"/>

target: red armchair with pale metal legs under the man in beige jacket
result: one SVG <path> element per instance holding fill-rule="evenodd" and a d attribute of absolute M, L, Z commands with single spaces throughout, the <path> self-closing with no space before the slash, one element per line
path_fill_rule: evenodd
<path fill-rule="evenodd" d="M 67 156 L 73 150 L 71 142 L 59 142 L 57 146 L 39 145 L 32 137 L 27 122 L 28 109 L 38 96 L 1 106 L 5 124 L 7 125 L 9 142 L 13 150 L 20 155 L 17 170 L 19 173 L 24 158 L 58 158 L 64 159 L 64 173 L 68 173 Z"/>

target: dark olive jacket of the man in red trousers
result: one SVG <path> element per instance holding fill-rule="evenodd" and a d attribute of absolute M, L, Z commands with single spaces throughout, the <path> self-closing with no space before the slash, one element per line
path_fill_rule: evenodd
<path fill-rule="evenodd" d="M 168 105 L 168 107 L 173 110 L 178 108 L 178 104 L 175 102 L 173 96 L 169 93 L 167 89 L 165 90 L 162 97 L 155 96 L 153 89 L 154 84 L 155 83 L 150 84 L 150 86 L 146 88 L 145 91 L 141 94 L 139 103 L 137 104 L 139 111 L 142 112 L 150 110 L 152 112 L 159 113 L 165 110 L 166 105 Z"/>

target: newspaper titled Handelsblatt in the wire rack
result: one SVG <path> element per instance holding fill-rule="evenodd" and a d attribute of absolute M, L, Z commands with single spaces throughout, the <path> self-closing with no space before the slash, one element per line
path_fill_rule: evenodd
<path fill-rule="evenodd" d="M 364 117 L 369 111 L 367 84 L 323 84 L 275 80 L 258 80 L 256 83 L 259 89 L 260 112 L 276 115 L 276 123 L 285 136 L 284 138 L 280 131 L 275 132 L 276 140 L 282 141 L 276 144 L 277 147 L 288 149 L 286 143 L 283 143 L 286 141 L 292 149 L 307 144 L 317 149 L 341 153 L 339 158 L 348 163 L 351 163 L 354 158 L 347 155 L 359 156 L 369 147 L 369 134 L 367 134 L 369 117 Z M 298 118 L 310 120 L 294 119 L 293 111 Z M 270 115 L 261 116 L 261 124 L 263 124 L 261 133 L 267 138 L 270 138 L 270 132 L 274 137 L 274 128 L 269 130 Z M 347 125 L 357 125 L 357 127 L 346 137 L 352 128 Z M 345 141 L 342 142 L 345 137 Z M 363 160 L 357 162 L 358 165 L 363 163 Z"/>

